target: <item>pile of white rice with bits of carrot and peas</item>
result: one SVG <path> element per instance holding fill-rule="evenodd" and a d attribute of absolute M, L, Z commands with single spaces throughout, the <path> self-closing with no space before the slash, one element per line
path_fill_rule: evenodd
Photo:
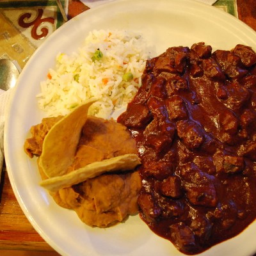
<path fill-rule="evenodd" d="M 101 55 L 95 60 L 97 50 Z M 126 108 L 140 88 L 149 57 L 150 50 L 138 34 L 91 31 L 77 52 L 58 54 L 56 67 L 49 70 L 36 95 L 39 108 L 47 116 L 67 115 L 84 100 L 96 98 L 89 114 L 109 118 L 113 111 Z"/>

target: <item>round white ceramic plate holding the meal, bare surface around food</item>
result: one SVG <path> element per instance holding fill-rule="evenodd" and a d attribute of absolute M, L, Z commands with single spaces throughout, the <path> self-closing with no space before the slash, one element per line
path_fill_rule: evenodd
<path fill-rule="evenodd" d="M 171 46 L 205 42 L 213 49 L 246 44 L 256 49 L 256 33 L 235 17 L 191 0 L 119 0 L 86 11 L 53 33 L 22 71 L 12 95 L 4 132 L 5 157 L 13 191 L 38 233 L 61 255 L 182 255 L 172 243 L 156 236 L 138 216 L 115 227 L 84 225 L 76 213 L 56 205 L 38 186 L 36 160 L 23 151 L 31 125 L 44 113 L 36 103 L 40 81 L 54 67 L 58 52 L 71 53 L 92 29 L 140 31 L 160 54 Z M 256 221 L 242 234 L 202 255 L 251 255 L 256 252 Z"/>

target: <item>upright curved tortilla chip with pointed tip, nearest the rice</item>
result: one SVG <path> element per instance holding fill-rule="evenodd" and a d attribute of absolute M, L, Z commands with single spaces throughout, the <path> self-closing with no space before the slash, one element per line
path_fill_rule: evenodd
<path fill-rule="evenodd" d="M 67 172 L 76 155 L 81 130 L 88 116 L 88 109 L 95 102 L 88 100 L 57 122 L 45 136 L 39 166 L 47 177 L 57 177 Z"/>

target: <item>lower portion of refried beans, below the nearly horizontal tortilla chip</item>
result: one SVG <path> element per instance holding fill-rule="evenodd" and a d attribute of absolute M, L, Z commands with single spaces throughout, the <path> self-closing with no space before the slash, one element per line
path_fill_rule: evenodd
<path fill-rule="evenodd" d="M 103 174 L 52 194 L 61 207 L 73 209 L 91 227 L 106 228 L 138 214 L 138 172 Z"/>

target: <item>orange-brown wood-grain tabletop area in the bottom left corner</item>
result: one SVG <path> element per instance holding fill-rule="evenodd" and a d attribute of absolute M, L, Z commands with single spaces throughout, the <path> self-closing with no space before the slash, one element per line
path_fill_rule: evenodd
<path fill-rule="evenodd" d="M 47 255 L 51 252 L 51 255 L 59 255 L 45 243 L 20 209 L 6 172 L 1 180 L 0 255 L 7 252 L 9 254 L 5 255 L 32 255 L 29 252 L 47 252 Z M 15 253 L 10 250 L 15 250 Z"/>

